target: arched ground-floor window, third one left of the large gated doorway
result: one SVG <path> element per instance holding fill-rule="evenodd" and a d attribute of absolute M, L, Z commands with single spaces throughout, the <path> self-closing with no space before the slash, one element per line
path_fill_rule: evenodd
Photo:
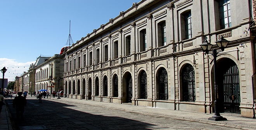
<path fill-rule="evenodd" d="M 140 74 L 140 98 L 147 99 L 147 73 L 145 71 Z"/>

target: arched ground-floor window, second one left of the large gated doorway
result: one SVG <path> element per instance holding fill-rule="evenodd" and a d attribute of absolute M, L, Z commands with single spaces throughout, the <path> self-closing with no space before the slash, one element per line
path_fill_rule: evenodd
<path fill-rule="evenodd" d="M 168 74 L 166 69 L 159 71 L 159 100 L 168 100 Z"/>

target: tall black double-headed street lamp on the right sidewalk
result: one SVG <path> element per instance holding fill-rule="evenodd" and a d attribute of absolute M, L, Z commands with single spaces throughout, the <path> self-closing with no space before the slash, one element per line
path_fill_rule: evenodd
<path fill-rule="evenodd" d="M 215 43 L 218 45 L 218 47 L 221 48 L 221 51 L 224 51 L 225 47 L 227 47 L 228 42 L 226 39 L 224 39 L 223 36 L 221 36 L 221 39 L 219 39 L 218 41 L 216 41 Z M 202 50 L 208 54 L 211 47 L 213 46 L 212 44 L 210 44 L 207 40 L 205 40 L 201 45 Z M 216 57 L 217 57 L 218 52 L 216 51 L 216 49 L 213 49 L 213 68 L 214 68 L 214 89 L 215 89 L 215 101 L 214 101 L 214 116 L 209 117 L 208 120 L 213 120 L 213 121 L 223 121 L 223 120 L 227 120 L 227 118 L 224 118 L 220 115 L 220 111 L 219 111 L 219 100 L 218 100 L 218 85 L 217 85 L 217 62 L 216 62 Z"/>

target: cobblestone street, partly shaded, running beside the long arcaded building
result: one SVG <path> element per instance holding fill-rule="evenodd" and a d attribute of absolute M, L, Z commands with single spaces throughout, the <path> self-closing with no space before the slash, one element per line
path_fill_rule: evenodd
<path fill-rule="evenodd" d="M 24 119 L 18 120 L 15 109 L 12 108 L 13 99 L 9 98 L 6 101 L 12 115 L 11 120 L 15 124 L 12 126 L 16 130 L 238 130 L 232 127 L 62 100 L 66 98 L 59 100 L 45 98 L 39 103 L 34 96 L 27 97 Z"/>

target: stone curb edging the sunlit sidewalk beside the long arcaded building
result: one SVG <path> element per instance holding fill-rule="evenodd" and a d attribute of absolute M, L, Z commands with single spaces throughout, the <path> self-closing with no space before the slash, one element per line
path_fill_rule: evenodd
<path fill-rule="evenodd" d="M 50 99 L 47 99 L 50 100 Z M 52 100 L 57 100 L 57 99 L 52 99 Z M 231 127 L 231 128 L 240 128 L 243 130 L 256 130 L 256 126 L 244 126 L 244 125 L 235 125 L 234 123 L 226 123 L 226 122 L 221 122 L 221 121 L 211 121 L 211 120 L 201 120 L 201 119 L 195 119 L 195 118 L 188 118 L 185 116 L 176 116 L 176 115 L 169 115 L 169 114 L 160 114 L 160 113 L 152 113 L 152 112 L 143 112 L 143 111 L 137 111 L 137 110 L 130 110 L 130 109 L 122 109 L 122 108 L 116 108 L 116 107 L 108 107 L 108 106 L 102 106 L 102 105 L 92 105 L 92 104 L 86 104 L 86 103 L 81 103 L 81 102 L 76 102 L 76 101 L 68 101 L 70 103 L 79 103 L 83 105 L 90 105 L 90 106 L 98 106 L 102 108 L 109 108 L 109 109 L 116 109 L 116 110 L 123 110 L 123 111 L 130 111 L 130 112 L 136 112 L 136 113 L 144 113 L 144 114 L 150 114 L 150 115 L 156 115 L 156 116 L 164 116 L 164 117 L 171 117 L 171 118 L 176 118 L 176 119 L 181 119 L 181 120 L 186 120 L 186 121 L 192 121 L 192 122 L 200 122 L 200 123 L 207 123 L 211 125 L 219 125 L 219 126 L 225 126 L 225 127 Z"/>

